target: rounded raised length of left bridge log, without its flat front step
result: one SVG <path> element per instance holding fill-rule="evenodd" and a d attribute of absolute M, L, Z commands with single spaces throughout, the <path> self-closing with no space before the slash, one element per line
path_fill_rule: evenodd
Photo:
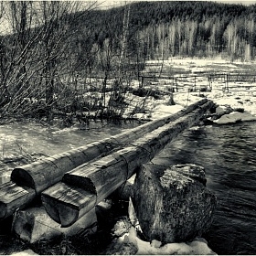
<path fill-rule="evenodd" d="M 121 144 L 131 143 L 133 140 L 144 136 L 145 133 L 150 133 L 158 127 L 163 126 L 165 123 L 170 123 L 187 114 L 187 112 L 195 110 L 197 106 L 206 103 L 206 101 L 206 99 L 197 101 L 189 105 L 187 109 L 176 112 L 176 114 L 154 122 L 145 123 L 127 132 L 112 136 L 111 138 L 86 144 L 63 154 L 46 157 L 32 164 L 16 167 L 11 174 L 11 180 L 14 181 L 16 185 L 34 188 L 37 194 L 39 194 L 44 189 L 59 182 L 62 176 L 73 168 L 89 162 L 101 154 L 109 153 L 112 149 L 118 148 Z"/>

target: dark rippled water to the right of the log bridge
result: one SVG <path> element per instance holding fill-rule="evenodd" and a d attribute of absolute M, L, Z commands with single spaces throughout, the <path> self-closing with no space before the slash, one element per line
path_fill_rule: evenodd
<path fill-rule="evenodd" d="M 154 159 L 202 165 L 218 208 L 206 239 L 218 254 L 256 254 L 256 123 L 192 128 Z"/>

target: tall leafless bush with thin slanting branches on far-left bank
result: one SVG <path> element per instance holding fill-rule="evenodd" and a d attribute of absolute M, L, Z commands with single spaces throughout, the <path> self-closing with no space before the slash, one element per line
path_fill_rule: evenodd
<path fill-rule="evenodd" d="M 32 98 L 45 99 L 50 115 L 59 81 L 69 76 L 73 23 L 85 15 L 81 2 L 1 2 L 11 33 L 1 39 L 0 80 L 2 116 L 27 112 Z M 88 5 L 88 9 L 93 3 Z M 73 73 L 73 70 L 72 70 Z M 27 98 L 29 102 L 27 102 Z M 25 107 L 26 105 L 26 107 Z M 43 106 L 42 106 L 43 107 Z"/>

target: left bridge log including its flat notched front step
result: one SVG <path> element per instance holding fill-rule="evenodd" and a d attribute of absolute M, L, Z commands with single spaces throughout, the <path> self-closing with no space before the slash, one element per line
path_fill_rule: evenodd
<path fill-rule="evenodd" d="M 58 183 L 64 173 L 69 170 L 84 164 L 101 154 L 107 154 L 111 152 L 112 149 L 118 148 L 120 145 L 131 143 L 133 140 L 142 137 L 145 133 L 150 133 L 157 127 L 165 125 L 165 123 L 170 123 L 177 118 L 184 116 L 188 112 L 192 112 L 198 105 L 202 105 L 206 102 L 206 99 L 197 101 L 194 104 L 189 105 L 186 109 L 176 112 L 176 114 L 166 116 L 163 119 L 151 123 L 144 123 L 132 130 L 101 140 L 98 143 L 80 146 L 76 149 L 69 150 L 66 153 L 46 157 L 32 164 L 15 168 L 12 172 L 11 179 L 16 183 L 16 186 L 12 185 L 10 191 L 12 189 L 20 189 L 23 193 L 16 194 L 16 197 L 8 197 L 5 195 L 7 193 L 7 188 L 5 186 L 0 187 L 0 195 L 5 195 L 5 197 L 0 197 L 2 212 L 2 214 L 0 214 L 0 219 L 13 214 L 16 208 L 24 208 L 28 206 L 33 198 L 40 194 L 44 189 Z M 32 189 L 23 187 L 30 187 Z M 26 193 L 24 189 L 26 190 Z"/>

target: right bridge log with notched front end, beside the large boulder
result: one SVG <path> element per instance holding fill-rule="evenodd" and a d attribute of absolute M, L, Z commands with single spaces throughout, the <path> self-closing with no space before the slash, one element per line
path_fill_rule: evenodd
<path fill-rule="evenodd" d="M 175 122 L 146 134 L 133 145 L 66 173 L 62 182 L 41 194 L 49 216 L 65 227 L 72 225 L 133 176 L 136 168 L 150 161 L 179 133 L 196 123 L 212 105 L 213 102 L 208 101 Z"/>

